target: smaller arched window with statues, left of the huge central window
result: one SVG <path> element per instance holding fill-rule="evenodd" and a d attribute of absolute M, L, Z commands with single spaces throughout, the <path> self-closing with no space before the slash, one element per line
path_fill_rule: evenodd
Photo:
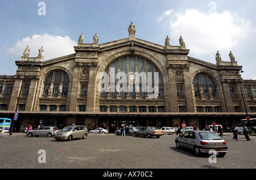
<path fill-rule="evenodd" d="M 63 70 L 50 72 L 44 81 L 43 94 L 47 95 L 67 95 L 68 94 L 69 77 Z"/>

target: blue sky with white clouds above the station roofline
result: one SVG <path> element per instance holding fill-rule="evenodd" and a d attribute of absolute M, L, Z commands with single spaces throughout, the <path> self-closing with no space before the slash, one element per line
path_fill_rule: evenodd
<path fill-rule="evenodd" d="M 38 11 L 44 2 L 46 15 Z M 81 32 L 84 43 L 99 44 L 128 37 L 133 22 L 139 39 L 164 45 L 179 45 L 183 36 L 189 56 L 211 62 L 220 51 L 230 61 L 229 51 L 245 71 L 243 79 L 256 79 L 256 1 L 173 0 L 0 0 L 0 75 L 16 74 L 28 45 L 30 57 L 44 47 L 45 60 L 74 53 Z"/>

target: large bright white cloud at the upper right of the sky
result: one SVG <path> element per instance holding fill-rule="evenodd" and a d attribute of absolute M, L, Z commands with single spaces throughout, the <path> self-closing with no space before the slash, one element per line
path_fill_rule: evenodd
<path fill-rule="evenodd" d="M 204 14 L 187 9 L 185 13 L 164 11 L 158 20 L 168 18 L 172 45 L 179 45 L 183 36 L 186 48 L 193 56 L 213 54 L 217 51 L 231 51 L 240 40 L 250 36 L 251 22 L 230 14 L 214 12 Z M 214 56 L 213 56 L 214 57 Z"/>

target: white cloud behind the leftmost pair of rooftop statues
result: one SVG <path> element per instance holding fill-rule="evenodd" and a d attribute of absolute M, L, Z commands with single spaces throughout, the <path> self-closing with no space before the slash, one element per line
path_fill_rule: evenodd
<path fill-rule="evenodd" d="M 75 53 L 73 47 L 77 45 L 77 42 L 69 36 L 61 37 L 49 34 L 33 35 L 32 37 L 24 37 L 22 40 L 17 41 L 14 47 L 9 48 L 7 52 L 15 56 L 23 56 L 27 45 L 30 48 L 29 57 L 38 56 L 38 50 L 43 46 L 45 53 L 44 60 L 49 60 Z"/>

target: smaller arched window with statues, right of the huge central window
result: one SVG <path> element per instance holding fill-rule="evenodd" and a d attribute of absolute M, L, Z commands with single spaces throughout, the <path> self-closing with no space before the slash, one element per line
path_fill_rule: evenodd
<path fill-rule="evenodd" d="M 207 73 L 198 73 L 193 79 L 195 95 L 196 97 L 200 97 L 204 95 L 208 97 L 212 95 L 213 97 L 217 97 L 216 84 L 212 77 Z M 200 91 L 200 89 L 202 89 Z"/>

